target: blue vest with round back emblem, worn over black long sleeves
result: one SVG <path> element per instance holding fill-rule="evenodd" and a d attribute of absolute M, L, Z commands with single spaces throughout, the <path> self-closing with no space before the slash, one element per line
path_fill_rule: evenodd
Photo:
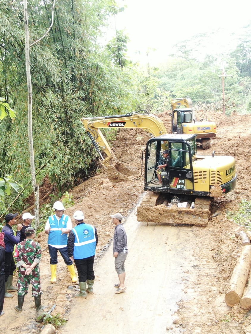
<path fill-rule="evenodd" d="M 75 234 L 73 257 L 76 260 L 95 255 L 95 228 L 89 224 L 79 224 L 72 229 Z"/>

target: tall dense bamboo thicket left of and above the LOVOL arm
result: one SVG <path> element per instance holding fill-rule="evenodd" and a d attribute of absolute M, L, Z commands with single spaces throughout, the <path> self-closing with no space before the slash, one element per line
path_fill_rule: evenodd
<path fill-rule="evenodd" d="M 15 124 L 7 118 L 0 124 L 0 175 L 11 174 L 19 182 L 22 177 L 26 183 L 30 168 L 23 8 L 20 1 L 11 3 L 3 0 L 0 7 L 0 44 L 4 45 L 0 95 L 11 102 L 17 117 Z M 33 42 L 48 28 L 52 3 L 33 0 L 28 6 Z M 80 119 L 128 112 L 136 105 L 133 68 L 121 71 L 112 64 L 107 49 L 96 42 L 114 11 L 119 8 L 108 0 L 59 0 L 52 30 L 31 47 L 35 166 L 44 166 L 60 192 L 95 169 L 97 153 Z M 122 42 L 120 37 L 125 48 L 127 40 Z"/>

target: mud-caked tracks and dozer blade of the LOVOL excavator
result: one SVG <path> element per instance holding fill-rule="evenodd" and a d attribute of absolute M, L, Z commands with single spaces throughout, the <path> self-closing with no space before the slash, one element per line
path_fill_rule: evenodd
<path fill-rule="evenodd" d="M 175 196 L 177 198 L 177 196 Z M 188 224 L 206 226 L 210 213 L 211 197 L 196 197 L 191 207 L 178 207 L 175 203 L 169 207 L 170 198 L 163 194 L 147 192 L 137 209 L 138 221 Z M 189 205 L 189 204 L 188 204 Z"/>

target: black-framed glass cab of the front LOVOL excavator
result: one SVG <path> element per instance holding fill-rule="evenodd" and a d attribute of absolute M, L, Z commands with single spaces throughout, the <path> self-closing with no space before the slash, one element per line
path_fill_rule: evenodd
<path fill-rule="evenodd" d="M 189 194 L 194 191 L 193 166 L 196 135 L 163 135 L 151 138 L 145 151 L 145 190 Z M 162 152 L 169 150 L 168 164 L 157 183 L 156 169 L 163 163 Z M 156 189 L 157 188 L 157 189 Z"/>

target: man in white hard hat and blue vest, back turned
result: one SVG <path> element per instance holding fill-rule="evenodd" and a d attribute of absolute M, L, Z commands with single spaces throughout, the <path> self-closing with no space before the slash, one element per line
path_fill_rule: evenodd
<path fill-rule="evenodd" d="M 85 216 L 82 211 L 75 211 L 73 218 L 77 226 L 69 234 L 67 243 L 68 256 L 71 260 L 75 261 L 78 271 L 80 292 L 75 297 L 86 298 L 86 292 L 92 293 L 93 290 L 95 279 L 93 264 L 98 243 L 98 234 L 95 226 L 84 222 Z"/>

